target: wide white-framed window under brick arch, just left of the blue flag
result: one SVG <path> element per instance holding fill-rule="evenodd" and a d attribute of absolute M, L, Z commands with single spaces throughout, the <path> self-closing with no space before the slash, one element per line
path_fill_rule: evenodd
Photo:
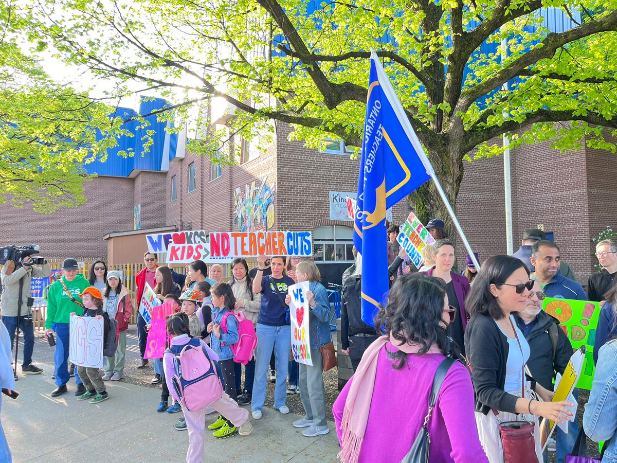
<path fill-rule="evenodd" d="M 351 227 L 330 225 L 313 230 L 313 259 L 315 262 L 353 262 L 354 230 Z"/>

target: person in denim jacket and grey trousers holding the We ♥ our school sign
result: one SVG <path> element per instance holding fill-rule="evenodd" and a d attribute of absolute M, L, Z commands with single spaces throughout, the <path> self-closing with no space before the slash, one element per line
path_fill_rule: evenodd
<path fill-rule="evenodd" d="M 296 280 L 298 283 L 310 283 L 310 291 L 307 291 L 304 295 L 304 300 L 309 304 L 310 356 L 313 365 L 298 364 L 300 399 L 306 415 L 304 418 L 294 421 L 293 425 L 296 428 L 308 428 L 302 431 L 302 435 L 315 437 L 329 433 L 328 423 L 326 422 L 326 399 L 320 346 L 331 341 L 330 304 L 326 288 L 319 283 L 321 274 L 314 262 L 299 262 L 296 267 Z M 285 298 L 285 303 L 291 303 L 289 294 Z"/>

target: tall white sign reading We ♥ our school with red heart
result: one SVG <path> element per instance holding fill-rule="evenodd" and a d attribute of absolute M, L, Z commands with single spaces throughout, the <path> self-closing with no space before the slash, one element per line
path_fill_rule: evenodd
<path fill-rule="evenodd" d="M 291 352 L 294 360 L 299 364 L 313 366 L 310 358 L 309 301 L 306 298 L 309 282 L 288 286 L 287 291 L 291 297 L 291 304 L 289 304 Z"/>

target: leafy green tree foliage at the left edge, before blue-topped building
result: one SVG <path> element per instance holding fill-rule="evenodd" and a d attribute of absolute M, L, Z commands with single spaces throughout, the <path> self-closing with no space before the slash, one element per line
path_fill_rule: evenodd
<path fill-rule="evenodd" d="M 83 183 L 93 178 L 83 165 L 115 146 L 122 119 L 110 119 L 109 106 L 56 83 L 20 48 L 27 16 L 4 4 L 0 24 L 0 202 L 30 202 L 38 212 L 75 207 L 86 201 Z M 44 43 L 35 46 L 42 51 Z"/>

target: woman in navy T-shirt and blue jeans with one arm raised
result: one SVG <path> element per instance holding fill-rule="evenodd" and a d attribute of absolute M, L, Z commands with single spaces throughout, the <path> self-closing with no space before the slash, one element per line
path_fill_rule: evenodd
<path fill-rule="evenodd" d="M 276 388 L 274 407 L 283 415 L 289 413 L 287 401 L 287 373 L 289 350 L 291 349 L 291 328 L 289 326 L 289 307 L 285 304 L 287 287 L 294 280 L 284 275 L 285 258 L 274 256 L 270 259 L 272 275 L 263 276 L 268 257 L 257 257 L 257 273 L 253 281 L 253 293 L 261 294 L 262 301 L 257 319 L 257 351 L 255 351 L 255 380 L 251 408 L 253 419 L 262 417 L 263 403 L 266 399 L 266 375 L 270 366 L 272 351 L 276 357 Z"/>

